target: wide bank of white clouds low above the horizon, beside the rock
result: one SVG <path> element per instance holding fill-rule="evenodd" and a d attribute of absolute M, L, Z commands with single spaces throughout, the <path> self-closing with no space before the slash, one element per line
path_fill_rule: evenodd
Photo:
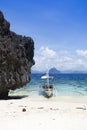
<path fill-rule="evenodd" d="M 77 55 L 75 55 L 76 53 Z M 58 70 L 87 70 L 87 52 L 76 50 L 69 53 L 67 50 L 54 51 L 48 47 L 41 47 L 35 54 L 35 70 L 46 71 L 47 68 L 56 67 Z"/>

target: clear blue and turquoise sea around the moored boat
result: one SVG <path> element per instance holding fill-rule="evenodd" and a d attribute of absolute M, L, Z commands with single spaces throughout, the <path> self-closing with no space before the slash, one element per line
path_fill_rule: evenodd
<path fill-rule="evenodd" d="M 11 94 L 40 96 L 41 86 L 46 80 L 43 74 L 31 74 L 31 81 Z M 87 74 L 54 74 L 50 84 L 55 86 L 56 96 L 87 96 Z"/>

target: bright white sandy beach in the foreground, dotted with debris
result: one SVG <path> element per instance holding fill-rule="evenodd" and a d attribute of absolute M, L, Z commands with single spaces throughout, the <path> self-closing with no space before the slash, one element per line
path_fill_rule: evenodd
<path fill-rule="evenodd" d="M 87 130 L 87 97 L 0 100 L 0 130 L 6 129 Z"/>

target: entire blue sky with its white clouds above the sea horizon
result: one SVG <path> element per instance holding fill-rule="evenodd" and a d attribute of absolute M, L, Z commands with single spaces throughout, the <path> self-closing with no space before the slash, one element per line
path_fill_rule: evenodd
<path fill-rule="evenodd" d="M 87 71 L 86 0 L 1 0 L 10 29 L 34 40 L 33 70 Z"/>

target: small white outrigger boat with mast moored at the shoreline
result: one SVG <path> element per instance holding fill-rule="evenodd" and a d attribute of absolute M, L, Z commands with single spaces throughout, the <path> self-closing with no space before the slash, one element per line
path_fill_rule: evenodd
<path fill-rule="evenodd" d="M 41 76 L 41 79 L 46 79 L 46 84 L 42 85 L 43 93 L 45 97 L 50 98 L 53 96 L 54 85 L 49 83 L 49 79 L 53 78 L 53 76 L 49 76 L 49 72 L 47 71 L 46 75 Z"/>

